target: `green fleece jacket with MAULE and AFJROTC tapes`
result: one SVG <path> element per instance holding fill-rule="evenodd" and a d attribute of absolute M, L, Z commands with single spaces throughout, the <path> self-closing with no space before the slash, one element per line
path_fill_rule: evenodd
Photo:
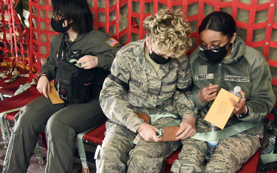
<path fill-rule="evenodd" d="M 210 83 L 218 85 L 219 90 L 232 90 L 235 86 L 240 86 L 246 94 L 249 115 L 245 118 L 232 116 L 226 126 L 241 121 L 260 122 L 273 108 L 275 97 L 268 62 L 261 52 L 246 46 L 240 37 L 237 36 L 230 58 L 226 60 L 214 64 L 205 57 L 203 51 L 196 49 L 189 62 L 194 82 L 190 98 L 195 102 L 200 117 L 205 117 L 212 105 L 212 102 L 203 103 L 199 98 L 200 90 Z M 245 132 L 261 135 L 263 125 Z"/>

